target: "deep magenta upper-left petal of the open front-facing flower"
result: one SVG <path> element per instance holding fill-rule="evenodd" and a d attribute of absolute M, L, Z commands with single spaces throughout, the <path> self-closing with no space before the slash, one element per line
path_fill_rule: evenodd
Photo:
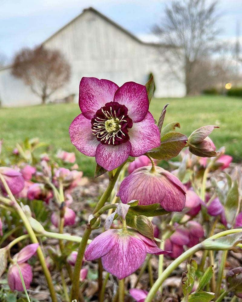
<path fill-rule="evenodd" d="M 118 88 L 109 80 L 83 77 L 79 87 L 79 106 L 84 117 L 92 119 L 98 109 L 113 102 Z"/>

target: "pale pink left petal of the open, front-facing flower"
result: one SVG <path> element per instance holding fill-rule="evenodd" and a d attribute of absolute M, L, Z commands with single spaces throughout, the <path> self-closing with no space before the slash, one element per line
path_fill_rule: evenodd
<path fill-rule="evenodd" d="M 87 156 L 95 156 L 99 141 L 93 135 L 90 120 L 79 114 L 70 124 L 69 133 L 71 143 L 78 151 Z"/>

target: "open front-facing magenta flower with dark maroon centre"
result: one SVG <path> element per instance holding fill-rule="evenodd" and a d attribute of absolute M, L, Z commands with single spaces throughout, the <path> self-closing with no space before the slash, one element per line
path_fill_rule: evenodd
<path fill-rule="evenodd" d="M 130 156 L 141 156 L 160 146 L 160 133 L 152 114 L 146 87 L 82 78 L 79 106 L 82 114 L 70 125 L 70 140 L 81 153 L 111 171 Z"/>

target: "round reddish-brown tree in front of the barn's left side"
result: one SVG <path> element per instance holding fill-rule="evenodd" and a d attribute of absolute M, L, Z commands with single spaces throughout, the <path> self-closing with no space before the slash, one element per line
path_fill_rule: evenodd
<path fill-rule="evenodd" d="M 70 79 L 70 64 L 57 50 L 25 48 L 15 56 L 12 74 L 22 79 L 45 104 Z"/>

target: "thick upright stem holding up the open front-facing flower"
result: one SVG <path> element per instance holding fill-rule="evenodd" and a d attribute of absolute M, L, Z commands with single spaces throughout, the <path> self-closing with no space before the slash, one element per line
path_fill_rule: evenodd
<path fill-rule="evenodd" d="M 96 214 L 105 204 L 105 202 L 107 201 L 107 199 L 109 198 L 114 185 L 118 179 L 119 173 L 122 170 L 123 166 L 125 165 L 125 163 L 123 163 L 122 165 L 120 165 L 117 169 L 115 174 L 110 178 L 110 182 L 109 185 L 107 186 L 106 190 L 103 192 L 103 195 L 101 196 L 100 200 L 98 201 L 95 209 L 93 210 L 93 214 Z M 71 300 L 77 299 L 78 298 L 78 290 L 79 290 L 79 276 L 80 276 L 80 270 L 81 270 L 81 266 L 82 266 L 82 259 L 83 259 L 83 255 L 85 252 L 85 248 L 87 245 L 87 241 L 89 239 L 90 233 L 91 233 L 91 229 L 85 228 L 83 237 L 82 237 L 82 241 L 80 243 L 78 252 L 77 252 L 77 260 L 75 263 L 75 267 L 74 267 L 74 273 L 73 273 L 73 283 L 72 283 L 72 292 L 71 292 Z"/>

